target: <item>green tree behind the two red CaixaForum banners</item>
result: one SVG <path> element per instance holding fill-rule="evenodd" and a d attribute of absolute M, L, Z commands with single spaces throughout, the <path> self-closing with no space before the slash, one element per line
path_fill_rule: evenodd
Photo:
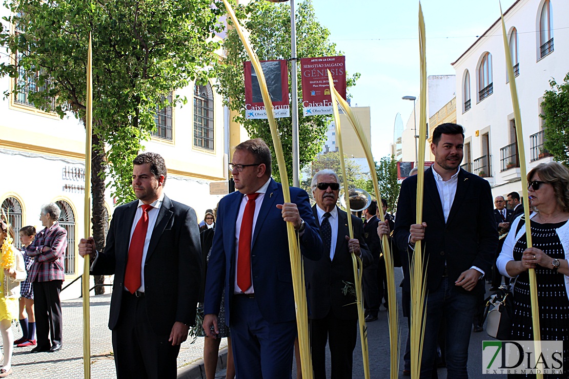
<path fill-rule="evenodd" d="M 237 16 L 244 20 L 245 27 L 251 32 L 250 40 L 261 60 L 288 59 L 290 57 L 290 5 L 273 4 L 265 0 L 251 1 L 248 5 L 236 8 Z M 329 31 L 316 19 L 310 0 L 298 5 L 296 10 L 296 55 L 298 58 L 336 56 L 340 52 L 329 41 Z M 224 40 L 226 58 L 219 61 L 213 69 L 218 78 L 217 91 L 227 99 L 230 109 L 237 111 L 236 122 L 245 126 L 252 138 L 271 141 L 267 120 L 248 120 L 245 118 L 245 84 L 243 63 L 249 60 L 245 49 L 234 30 L 229 30 Z M 353 86 L 360 74 L 348 77 L 347 86 Z M 289 70 L 289 88 L 290 70 Z M 302 85 L 298 70 L 299 109 L 302 110 Z M 299 160 L 300 167 L 310 163 L 321 150 L 329 116 L 304 117 L 299 112 Z M 289 180 L 292 183 L 292 119 L 277 119 L 279 134 L 283 145 Z M 273 144 L 269 143 L 274 155 Z M 279 180 L 277 161 L 273 162 L 273 176 Z"/>

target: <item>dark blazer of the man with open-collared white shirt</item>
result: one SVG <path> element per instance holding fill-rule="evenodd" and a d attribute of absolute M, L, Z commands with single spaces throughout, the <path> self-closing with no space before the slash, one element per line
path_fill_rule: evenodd
<path fill-rule="evenodd" d="M 454 202 L 444 221 L 443 206 L 436 187 L 432 167 L 424 173 L 423 221 L 427 223 L 422 244 L 427 259 L 427 288 L 432 291 L 442 281 L 447 265 L 451 282 L 461 273 L 476 266 L 490 274 L 492 260 L 498 246 L 498 232 L 494 222 L 492 192 L 487 181 L 460 169 Z M 409 229 L 417 214 L 417 176 L 401 184 L 395 218 L 395 238 L 401 251 L 403 268 L 409 269 L 413 249 L 409 248 Z M 403 289 L 409 291 L 409 274 L 405 275 Z M 484 290 L 479 281 L 476 291 Z M 464 291 L 464 290 L 463 290 Z"/>

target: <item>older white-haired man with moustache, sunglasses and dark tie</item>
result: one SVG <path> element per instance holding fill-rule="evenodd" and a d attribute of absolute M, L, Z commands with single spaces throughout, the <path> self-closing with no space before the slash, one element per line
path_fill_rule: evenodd
<path fill-rule="evenodd" d="M 354 238 L 349 238 L 348 214 L 336 206 L 340 192 L 338 176 L 320 170 L 312 178 L 316 205 L 312 213 L 320 228 L 324 254 L 318 261 L 304 261 L 315 379 L 325 379 L 326 341 L 332 359 L 332 379 L 352 377 L 352 355 L 356 347 L 357 305 L 352 253 L 364 266 L 373 262 L 364 240 L 364 224 L 352 217 Z"/>

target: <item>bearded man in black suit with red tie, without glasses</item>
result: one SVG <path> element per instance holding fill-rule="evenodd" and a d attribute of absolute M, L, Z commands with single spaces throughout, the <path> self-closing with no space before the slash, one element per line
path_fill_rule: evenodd
<path fill-rule="evenodd" d="M 201 284 L 197 217 L 164 195 L 161 156 L 142 153 L 133 163 L 138 200 L 114 211 L 104 251 L 89 237 L 79 253 L 92 261 L 91 274 L 114 274 L 109 328 L 117 378 L 175 378 Z"/>

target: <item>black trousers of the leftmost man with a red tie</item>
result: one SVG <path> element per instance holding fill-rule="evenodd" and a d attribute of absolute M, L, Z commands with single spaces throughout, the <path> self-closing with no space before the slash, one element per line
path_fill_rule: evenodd
<path fill-rule="evenodd" d="M 122 294 L 121 313 L 112 331 L 117 378 L 176 378 L 180 345 L 157 335 L 146 313 L 146 298 Z"/>

